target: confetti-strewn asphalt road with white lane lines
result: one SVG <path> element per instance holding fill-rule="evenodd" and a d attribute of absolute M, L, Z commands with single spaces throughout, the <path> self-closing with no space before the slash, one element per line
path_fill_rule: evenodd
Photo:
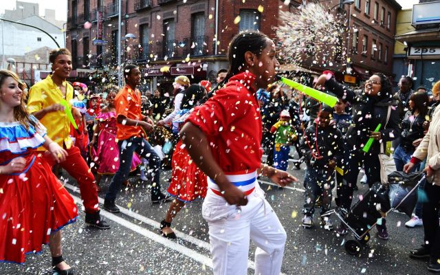
<path fill-rule="evenodd" d="M 261 179 L 267 200 L 287 232 L 283 274 L 429 273 L 426 261 L 408 257 L 409 250 L 423 242 L 423 229 L 405 228 L 408 217 L 404 214 L 389 214 L 390 239 L 382 241 L 372 234 L 371 241 L 362 249 L 360 256 L 350 256 L 344 250 L 345 241 L 353 239 L 350 234 L 337 236 L 319 225 L 304 229 L 301 226 L 301 210 L 305 171 L 291 172 L 300 181 L 283 189 L 267 184 L 267 179 Z M 166 179 L 169 177 L 169 170 L 162 173 L 163 190 L 168 186 Z M 104 197 L 110 180 L 111 177 L 102 179 L 100 198 Z M 63 254 L 76 274 L 212 274 L 208 228 L 201 217 L 202 201 L 189 203 L 177 215 L 173 227 L 178 230 L 178 239 L 170 241 L 158 234 L 159 222 L 164 218 L 168 204 L 151 203 L 148 182 L 140 182 L 135 176 L 130 181 L 132 186 L 124 188 L 117 200 L 122 213 L 110 214 L 102 210 L 102 216 L 111 225 L 110 230 L 87 227 L 83 213 L 76 223 L 63 230 Z M 68 180 L 66 188 L 81 206 L 76 182 Z M 355 194 L 361 195 L 366 189 L 366 186 L 360 185 Z M 318 219 L 316 214 L 315 224 L 318 224 Z M 254 274 L 254 250 L 254 245 L 251 245 L 249 274 Z M 28 255 L 25 265 L 0 263 L 0 274 L 52 274 L 49 267 L 50 252 L 46 247 L 41 255 Z"/>

